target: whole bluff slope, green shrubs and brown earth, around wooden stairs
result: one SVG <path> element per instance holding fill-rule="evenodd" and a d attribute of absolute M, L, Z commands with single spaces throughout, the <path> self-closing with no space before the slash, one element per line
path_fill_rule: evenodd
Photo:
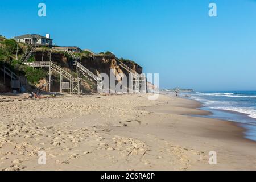
<path fill-rule="evenodd" d="M 0 36 L 0 66 L 5 65 L 7 68 L 11 69 L 16 75 L 25 76 L 27 78 L 30 86 L 35 87 L 40 81 L 48 80 L 48 69 L 47 68 L 31 68 L 27 67 L 20 63 L 20 58 L 23 53 L 26 51 L 27 45 L 24 43 L 16 42 L 13 39 L 6 39 Z M 81 63 L 85 65 L 86 68 L 90 69 L 95 75 L 98 73 L 109 73 L 110 68 L 114 68 L 117 72 L 122 72 L 117 64 L 117 57 L 110 52 L 106 51 L 95 54 L 91 51 L 82 51 L 80 53 L 74 53 L 76 56 L 79 56 L 81 59 Z M 51 55 L 51 56 L 50 56 Z M 51 50 L 48 47 L 36 48 L 36 52 L 34 55 L 28 59 L 27 62 L 34 61 L 49 61 L 49 57 L 51 60 L 59 65 L 61 68 L 65 69 L 65 71 L 71 73 L 73 77 L 77 77 L 77 73 L 72 71 L 72 67 L 70 65 L 72 61 L 72 57 L 65 53 L 64 51 L 55 51 Z M 119 59 L 123 63 L 126 63 L 130 67 L 133 67 L 137 70 L 142 70 L 138 64 L 134 61 L 128 59 Z M 52 73 L 55 81 L 59 81 L 60 77 L 56 73 Z M 97 84 L 94 83 L 89 78 L 83 78 L 84 91 L 85 93 L 93 92 L 97 90 Z"/>

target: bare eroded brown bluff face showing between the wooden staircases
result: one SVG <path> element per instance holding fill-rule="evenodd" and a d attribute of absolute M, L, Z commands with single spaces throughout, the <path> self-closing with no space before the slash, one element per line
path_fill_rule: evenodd
<path fill-rule="evenodd" d="M 65 71 L 71 73 L 75 72 L 75 68 L 70 65 L 72 58 L 66 55 L 64 52 L 55 52 L 49 50 L 36 50 L 35 52 L 35 61 L 49 61 L 51 56 L 51 60 L 59 65 L 61 68 L 65 69 Z M 106 73 L 110 78 L 110 69 L 114 69 L 114 73 L 117 76 L 119 73 L 124 73 L 127 78 L 129 72 L 126 69 L 123 69 L 118 65 L 118 61 L 114 55 L 87 55 L 84 56 L 80 54 L 81 61 L 80 63 L 84 65 L 85 68 L 89 69 L 94 75 L 98 76 L 100 73 Z M 135 72 L 141 74 L 142 67 L 132 61 L 123 61 L 128 67 L 133 69 Z M 73 74 L 73 73 L 72 73 Z M 57 80 L 57 79 L 56 79 Z M 109 80 L 110 81 L 110 80 Z M 115 83 L 120 81 L 120 78 L 117 76 L 117 80 Z M 89 92 L 97 92 L 97 86 L 92 80 L 84 80 L 82 82 L 84 86 L 84 93 Z M 56 92 L 59 88 L 56 88 Z"/>

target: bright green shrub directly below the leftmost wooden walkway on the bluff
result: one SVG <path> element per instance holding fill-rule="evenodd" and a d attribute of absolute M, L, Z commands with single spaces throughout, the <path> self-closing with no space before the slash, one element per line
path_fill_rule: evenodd
<path fill-rule="evenodd" d="M 25 69 L 27 81 L 36 84 L 40 79 L 47 76 L 47 72 L 44 71 L 42 68 L 33 69 L 31 67 L 27 67 Z"/>

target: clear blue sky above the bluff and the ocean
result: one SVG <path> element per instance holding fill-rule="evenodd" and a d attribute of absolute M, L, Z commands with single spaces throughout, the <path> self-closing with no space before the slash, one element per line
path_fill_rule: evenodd
<path fill-rule="evenodd" d="M 46 3 L 46 17 L 38 4 Z M 217 5 L 217 17 L 208 5 Z M 0 2 L 0 34 L 51 34 L 60 46 L 111 51 L 159 73 L 161 88 L 256 90 L 254 0 Z"/>

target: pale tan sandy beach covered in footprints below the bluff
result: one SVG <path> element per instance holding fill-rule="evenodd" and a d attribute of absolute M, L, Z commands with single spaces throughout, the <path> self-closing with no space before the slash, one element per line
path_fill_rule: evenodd
<path fill-rule="evenodd" d="M 1 170 L 255 170 L 256 143 L 200 103 L 160 95 L 0 96 Z M 38 164 L 38 152 L 46 164 Z M 209 151 L 217 164 L 208 163 Z"/>

